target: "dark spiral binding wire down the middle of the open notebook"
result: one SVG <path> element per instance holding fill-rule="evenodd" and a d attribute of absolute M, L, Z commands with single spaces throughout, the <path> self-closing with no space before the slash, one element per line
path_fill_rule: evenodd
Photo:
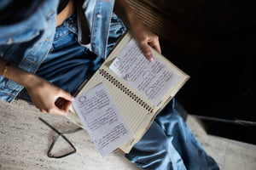
<path fill-rule="evenodd" d="M 149 111 L 150 113 L 153 112 L 153 108 L 150 107 L 146 102 L 143 101 L 143 99 L 140 99 L 139 97 L 137 97 L 136 94 L 133 94 L 131 92 L 131 90 L 129 90 L 128 88 L 126 88 L 121 82 L 119 82 L 118 80 L 116 80 L 113 76 L 111 76 L 107 71 L 105 71 L 104 69 L 99 70 L 100 71 L 100 75 L 102 75 L 102 77 L 105 77 L 109 82 L 113 83 L 113 85 L 115 85 L 117 88 L 119 88 L 121 91 L 123 91 L 125 94 L 127 94 L 128 96 L 130 96 L 131 99 L 133 99 L 134 101 L 136 101 L 139 105 L 143 106 L 143 108 L 145 108 L 147 111 Z"/>

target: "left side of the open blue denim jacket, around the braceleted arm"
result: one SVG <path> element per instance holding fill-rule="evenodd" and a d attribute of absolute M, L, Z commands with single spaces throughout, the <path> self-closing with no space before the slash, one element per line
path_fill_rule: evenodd
<path fill-rule="evenodd" d="M 57 5 L 58 1 L 46 0 L 27 20 L 0 26 L 0 57 L 20 69 L 36 72 L 53 41 Z M 0 99 L 11 102 L 21 88 L 16 82 L 0 76 Z"/>

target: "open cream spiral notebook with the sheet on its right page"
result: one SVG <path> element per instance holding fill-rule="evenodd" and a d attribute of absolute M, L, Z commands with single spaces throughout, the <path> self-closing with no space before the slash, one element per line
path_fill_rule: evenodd
<path fill-rule="evenodd" d="M 123 116 L 134 138 L 119 146 L 129 153 L 154 117 L 177 94 L 189 76 L 163 55 L 151 48 L 154 61 L 143 56 L 129 32 L 125 33 L 101 67 L 79 88 L 79 94 L 103 84 Z M 76 111 L 71 107 L 68 117 L 79 124 Z"/>

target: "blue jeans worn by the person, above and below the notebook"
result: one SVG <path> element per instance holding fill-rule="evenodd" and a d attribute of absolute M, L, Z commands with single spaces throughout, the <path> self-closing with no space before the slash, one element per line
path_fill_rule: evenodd
<path fill-rule="evenodd" d="M 75 22 L 73 24 L 73 29 L 64 25 L 57 27 L 53 48 L 36 73 L 71 94 L 103 62 L 79 45 Z M 119 29 L 114 26 L 110 30 L 108 50 L 121 35 Z M 125 157 L 144 169 L 218 169 L 174 109 L 174 102 L 172 99 L 156 116 L 143 139 Z"/>

